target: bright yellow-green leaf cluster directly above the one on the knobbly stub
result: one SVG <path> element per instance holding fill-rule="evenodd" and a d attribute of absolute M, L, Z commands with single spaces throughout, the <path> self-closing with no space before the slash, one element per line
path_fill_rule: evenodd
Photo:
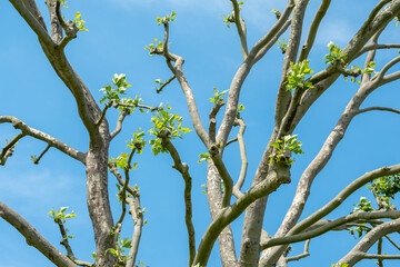
<path fill-rule="evenodd" d="M 312 69 L 309 68 L 310 60 L 306 59 L 301 62 L 290 62 L 290 70 L 287 75 L 287 91 L 293 91 L 296 88 L 313 88 L 310 81 L 306 81 L 306 75 L 311 75 Z"/>

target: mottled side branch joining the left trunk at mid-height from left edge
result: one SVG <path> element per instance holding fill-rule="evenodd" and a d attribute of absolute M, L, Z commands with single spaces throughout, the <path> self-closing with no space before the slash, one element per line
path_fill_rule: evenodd
<path fill-rule="evenodd" d="M 53 138 L 52 136 L 49 136 L 42 131 L 39 131 L 34 128 L 31 128 L 27 126 L 21 120 L 17 119 L 16 117 L 11 116 L 0 116 L 0 123 L 9 122 L 12 123 L 12 126 L 16 129 L 19 129 L 22 131 L 26 136 L 31 136 L 36 139 L 42 140 L 47 142 L 49 146 L 57 148 L 61 152 L 64 152 L 66 155 L 70 156 L 71 158 L 74 158 L 79 161 L 81 161 L 83 165 L 86 164 L 86 154 L 82 154 L 70 146 L 63 144 L 62 141 Z"/>

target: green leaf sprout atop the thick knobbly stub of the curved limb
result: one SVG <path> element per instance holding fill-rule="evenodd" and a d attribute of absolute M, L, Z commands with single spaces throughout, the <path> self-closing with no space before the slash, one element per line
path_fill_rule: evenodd
<path fill-rule="evenodd" d="M 294 136 L 284 136 L 282 139 L 277 140 L 271 144 L 271 147 L 274 147 L 277 150 L 274 154 L 269 156 L 269 165 L 284 162 L 287 166 L 294 164 L 294 159 L 288 157 L 288 152 L 293 154 L 304 154 L 301 149 L 301 141 L 297 140 L 297 135 Z"/>

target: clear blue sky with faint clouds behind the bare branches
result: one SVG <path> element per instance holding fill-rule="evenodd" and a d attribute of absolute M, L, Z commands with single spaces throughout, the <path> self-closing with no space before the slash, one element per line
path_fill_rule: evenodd
<path fill-rule="evenodd" d="M 286 1 L 249 0 L 243 6 L 243 18 L 248 27 L 249 44 L 261 38 L 274 22 L 272 9 L 283 8 Z M 376 1 L 332 1 L 332 7 L 322 22 L 323 31 L 317 37 L 310 59 L 316 71 L 323 68 L 322 57 L 327 53 L 327 43 L 333 41 L 344 47 L 358 30 L 368 10 Z M 47 19 L 44 4 L 39 1 Z M 310 2 L 306 26 L 310 23 L 318 1 Z M 207 125 L 211 103 L 212 88 L 228 89 L 231 79 L 241 63 L 239 38 L 233 28 L 222 23 L 222 14 L 231 11 L 230 1 L 203 3 L 191 0 L 138 1 L 99 0 L 69 1 L 63 10 L 67 18 L 73 18 L 74 11 L 81 11 L 89 32 L 80 32 L 78 39 L 67 48 L 70 62 L 100 100 L 99 89 L 111 82 L 113 73 L 127 73 L 132 85 L 130 96 L 141 95 L 147 105 L 168 102 L 173 111 L 184 118 L 184 125 L 191 127 L 183 95 L 174 81 L 157 95 L 152 89 L 156 79 L 168 79 L 171 73 L 164 60 L 149 57 L 144 46 L 153 38 L 162 38 L 162 28 L 154 18 L 176 11 L 177 21 L 171 24 L 171 51 L 186 59 L 183 66 L 189 83 L 192 86 L 200 116 Z M 8 1 L 0 2 L 0 115 L 16 116 L 29 126 L 42 130 L 68 145 L 87 150 L 88 135 L 79 120 L 72 96 L 56 76 L 48 63 L 33 32 L 13 10 Z M 287 37 L 284 34 L 283 37 Z M 382 36 L 382 42 L 397 42 L 400 33 L 394 23 L 389 24 Z M 378 68 L 397 55 L 397 51 L 378 53 Z M 257 63 L 244 82 L 241 102 L 247 107 L 243 118 L 247 122 L 249 170 L 244 188 L 249 188 L 251 177 L 258 166 L 262 151 L 269 140 L 273 126 L 273 109 L 277 86 L 279 85 L 282 55 L 274 47 Z M 360 62 L 359 62 L 360 63 Z M 398 70 L 394 67 L 393 70 Z M 393 82 L 373 92 L 363 107 L 399 107 L 399 82 Z M 291 204 L 297 181 L 336 125 L 343 108 L 357 90 L 357 85 L 340 78 L 309 110 L 296 134 L 303 142 L 304 155 L 296 157 L 292 167 L 292 184 L 284 185 L 271 195 L 267 207 L 264 226 L 272 235 L 279 227 L 287 208 Z M 114 127 L 117 112 L 109 112 L 110 128 Z M 150 127 L 150 115 L 136 113 L 127 119 L 123 132 L 112 141 L 110 156 L 124 152 L 124 140 L 138 128 Z M 400 159 L 399 116 L 388 112 L 361 115 L 351 123 L 346 138 L 338 146 L 331 161 L 317 178 L 304 215 L 311 214 L 336 196 L 346 185 L 366 171 L 384 165 L 398 164 Z M 237 132 L 236 130 L 232 131 Z M 4 139 L 17 134 L 9 125 L 0 125 L 0 146 Z M 198 165 L 198 155 L 204 152 L 196 134 L 188 134 L 176 146 L 183 161 L 190 166 L 193 177 L 193 221 L 197 241 L 210 222 L 207 197 L 201 194 L 206 184 L 206 164 Z M 81 164 L 61 152 L 50 149 L 39 166 L 30 161 L 30 155 L 39 155 L 46 144 L 24 138 L 6 167 L 0 168 L 0 200 L 9 205 L 30 221 L 46 238 L 58 245 L 60 235 L 48 212 L 62 206 L 74 210 L 77 217 L 68 222 L 76 238 L 71 241 L 74 254 L 82 260 L 91 261 L 94 250 L 91 222 L 86 207 L 86 178 Z M 236 145 L 224 152 L 224 159 L 232 177 L 238 177 L 240 158 Z M 186 266 L 188 260 L 187 234 L 184 227 L 183 182 L 179 174 L 171 168 L 168 155 L 153 157 L 150 149 L 136 159 L 139 168 L 132 172 L 134 184 L 141 188 L 141 202 L 149 211 L 144 214 L 149 224 L 143 227 L 142 241 L 138 259 L 156 266 Z M 119 216 L 116 181 L 110 176 L 110 196 L 114 217 Z M 329 216 L 333 219 L 352 210 L 352 204 L 360 196 L 372 196 L 360 190 L 346 201 L 340 209 Z M 398 201 L 398 199 L 396 199 Z M 131 236 L 131 221 L 127 218 L 122 236 Z M 232 224 L 237 247 L 239 248 L 242 217 Z M 0 220 L 0 267 L 52 266 L 34 248 L 27 246 L 23 238 L 11 226 Z M 329 266 L 340 259 L 356 239 L 348 233 L 332 233 L 311 241 L 311 257 L 290 266 Z M 63 251 L 63 248 L 60 248 Z M 293 255 L 302 251 L 302 245 L 294 245 Z M 388 253 L 394 253 L 388 250 Z M 362 266 L 376 266 L 373 260 L 362 261 Z M 218 245 L 211 255 L 209 266 L 221 266 Z M 387 266 L 396 266 L 396 263 Z"/>

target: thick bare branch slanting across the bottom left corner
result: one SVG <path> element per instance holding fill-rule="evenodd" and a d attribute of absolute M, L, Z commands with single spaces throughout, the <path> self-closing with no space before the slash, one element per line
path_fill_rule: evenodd
<path fill-rule="evenodd" d="M 50 261 L 59 267 L 77 267 L 66 255 L 53 247 L 42 237 L 26 219 L 0 201 L 0 217 L 12 225 L 26 239 L 29 246 L 33 246 Z"/>

